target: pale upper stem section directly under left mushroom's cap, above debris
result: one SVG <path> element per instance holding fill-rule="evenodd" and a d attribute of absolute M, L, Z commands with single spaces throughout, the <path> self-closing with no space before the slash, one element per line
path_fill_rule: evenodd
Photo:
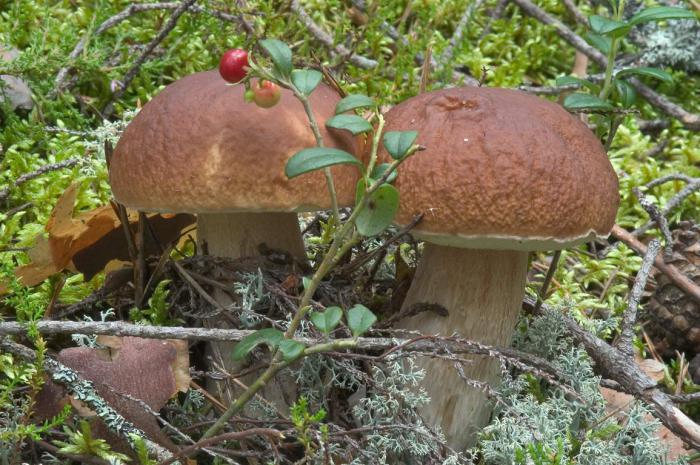
<path fill-rule="evenodd" d="M 197 216 L 197 238 L 209 255 L 254 257 L 259 245 L 289 252 L 306 261 L 296 213 L 209 213 Z"/>

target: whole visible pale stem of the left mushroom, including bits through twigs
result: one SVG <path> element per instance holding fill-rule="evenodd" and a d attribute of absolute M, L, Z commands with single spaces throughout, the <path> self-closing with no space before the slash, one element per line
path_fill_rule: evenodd
<path fill-rule="evenodd" d="M 209 255 L 218 257 L 254 257 L 260 255 L 259 245 L 265 243 L 270 249 L 289 252 L 300 263 L 306 262 L 304 242 L 299 229 L 296 213 L 218 213 L 199 214 L 197 216 L 197 242 L 200 250 L 206 243 Z M 223 306 L 232 303 L 231 297 L 215 289 L 212 296 Z M 212 328 L 230 328 L 228 320 L 216 316 L 204 321 Z M 240 328 L 239 328 L 240 329 Z M 245 362 L 234 362 L 231 353 L 236 343 L 227 341 L 210 342 L 207 354 L 216 364 L 222 364 L 230 374 L 235 374 L 246 367 Z M 215 368 L 215 367 L 214 367 Z M 240 395 L 245 386 L 252 383 L 260 373 L 253 373 L 240 379 L 208 384 L 225 404 L 230 404 Z M 280 411 L 286 411 L 296 400 L 295 384 L 289 376 L 281 374 L 260 392 L 271 405 Z M 253 414 L 254 412 L 247 413 Z"/>

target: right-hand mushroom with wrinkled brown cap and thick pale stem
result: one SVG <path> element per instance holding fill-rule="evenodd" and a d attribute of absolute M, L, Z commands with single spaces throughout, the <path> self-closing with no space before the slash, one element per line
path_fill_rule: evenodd
<path fill-rule="evenodd" d="M 453 88 L 418 95 L 386 114 L 387 130 L 417 130 L 424 152 L 399 170 L 397 223 L 424 212 L 413 234 L 422 257 L 403 303 L 438 304 L 399 327 L 494 346 L 511 342 L 530 251 L 606 237 L 619 204 L 618 181 L 598 139 L 562 107 L 525 93 Z M 422 414 L 464 449 L 488 422 L 482 391 L 453 364 L 421 361 L 432 401 Z M 499 365 L 474 357 L 470 379 L 495 384 Z"/>

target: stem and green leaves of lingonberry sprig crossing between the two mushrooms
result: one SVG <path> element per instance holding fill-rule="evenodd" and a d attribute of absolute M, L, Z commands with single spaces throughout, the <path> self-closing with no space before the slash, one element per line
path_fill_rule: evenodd
<path fill-rule="evenodd" d="M 318 121 L 308 99 L 321 82 L 322 74 L 313 69 L 294 69 L 292 51 L 284 42 L 266 39 L 260 42 L 260 46 L 269 56 L 269 63 L 251 60 L 246 82 L 255 77 L 289 89 L 304 106 L 316 146 L 294 154 L 287 162 L 285 174 L 288 178 L 295 178 L 312 171 L 323 170 L 333 206 L 333 239 L 313 275 L 304 278 L 304 292 L 286 331 L 275 328 L 261 329 L 244 338 L 235 347 L 233 357 L 242 359 L 253 348 L 264 344 L 272 350 L 272 360 L 265 372 L 230 405 L 204 433 L 203 438 L 219 432 L 281 369 L 308 355 L 356 347 L 357 338 L 374 324 L 377 317 L 364 305 L 356 304 L 347 311 L 340 307 L 328 307 L 323 312 L 312 312 L 311 299 L 323 278 L 354 245 L 363 237 L 381 233 L 391 224 L 399 206 L 399 193 L 391 185 L 391 181 L 401 163 L 420 150 L 420 146 L 415 144 L 418 135 L 415 131 L 390 131 L 383 134 L 384 119 L 376 103 L 370 97 L 359 94 L 349 95 L 338 102 L 336 115 L 326 121 L 326 126 L 348 131 L 355 136 L 365 135 L 371 142 L 367 165 L 351 153 L 324 147 Z M 253 91 L 255 92 L 255 86 Z M 364 118 L 356 114 L 356 110 L 368 110 L 369 117 Z M 380 143 L 384 144 L 393 158 L 391 163 L 378 164 L 377 150 Z M 350 216 L 342 222 L 330 170 L 331 166 L 340 164 L 355 166 L 361 174 L 357 184 L 355 206 Z M 307 317 L 310 324 L 326 335 L 325 341 L 307 346 L 295 340 L 297 329 Z M 331 331 L 341 323 L 343 317 L 353 337 L 331 339 Z"/>

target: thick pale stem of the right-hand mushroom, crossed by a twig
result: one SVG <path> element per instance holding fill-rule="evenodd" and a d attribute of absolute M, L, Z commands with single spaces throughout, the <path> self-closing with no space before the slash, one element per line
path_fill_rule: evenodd
<path fill-rule="evenodd" d="M 425 243 L 413 283 L 403 308 L 416 303 L 434 303 L 449 315 L 420 313 L 398 326 L 423 334 L 450 336 L 494 346 L 511 342 L 525 292 L 528 252 L 475 250 Z M 426 371 L 421 387 L 431 398 L 421 414 L 432 425 L 440 425 L 448 444 L 463 450 L 488 423 L 492 405 L 481 390 L 468 386 L 453 363 L 424 358 Z M 464 365 L 467 378 L 496 386 L 500 368 L 496 360 L 473 357 Z"/>

